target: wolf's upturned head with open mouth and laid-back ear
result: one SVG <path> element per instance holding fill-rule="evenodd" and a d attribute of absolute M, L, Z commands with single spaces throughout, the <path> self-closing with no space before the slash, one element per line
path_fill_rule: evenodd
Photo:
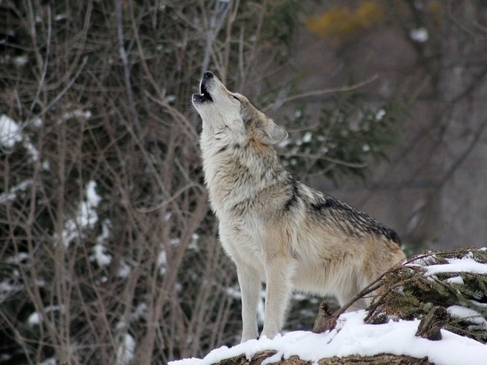
<path fill-rule="evenodd" d="M 218 134 L 238 144 L 278 144 L 288 136 L 284 128 L 251 105 L 243 95 L 230 92 L 211 72 L 206 71 L 193 94 L 193 105 L 203 120 L 202 138 Z"/>

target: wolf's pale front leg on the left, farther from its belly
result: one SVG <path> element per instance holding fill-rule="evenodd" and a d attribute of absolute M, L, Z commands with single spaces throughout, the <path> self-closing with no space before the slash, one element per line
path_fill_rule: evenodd
<path fill-rule="evenodd" d="M 242 293 L 242 339 L 245 342 L 257 338 L 257 305 L 259 303 L 260 279 L 257 272 L 247 266 L 237 265 L 236 275 Z"/>

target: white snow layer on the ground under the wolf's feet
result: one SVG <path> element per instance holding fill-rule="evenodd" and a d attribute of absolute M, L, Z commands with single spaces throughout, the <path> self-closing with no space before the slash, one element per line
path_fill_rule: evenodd
<path fill-rule="evenodd" d="M 335 330 L 315 334 L 308 331 L 293 331 L 274 339 L 251 339 L 228 348 L 221 346 L 208 353 L 204 359 L 185 359 L 169 362 L 169 365 L 209 365 L 229 357 L 245 354 L 247 358 L 265 350 L 277 353 L 262 364 L 279 361 L 282 357 L 298 355 L 305 361 L 319 361 L 325 357 L 344 357 L 352 354 L 362 356 L 377 353 L 409 355 L 418 358 L 428 356 L 429 361 L 439 365 L 485 364 L 487 346 L 471 338 L 464 338 L 442 330 L 443 338 L 429 341 L 415 337 L 419 320 L 365 324 L 365 311 L 341 315 Z"/>

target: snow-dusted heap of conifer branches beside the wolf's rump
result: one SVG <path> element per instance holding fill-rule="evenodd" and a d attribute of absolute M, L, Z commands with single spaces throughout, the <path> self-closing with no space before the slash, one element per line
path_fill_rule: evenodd
<path fill-rule="evenodd" d="M 373 286 L 379 289 L 366 322 L 421 319 L 439 306 L 448 313 L 444 330 L 487 343 L 485 248 L 416 255 L 405 265 L 390 269 Z"/>

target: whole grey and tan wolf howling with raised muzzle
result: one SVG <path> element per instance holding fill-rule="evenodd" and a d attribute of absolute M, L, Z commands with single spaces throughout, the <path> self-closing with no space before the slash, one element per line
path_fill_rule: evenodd
<path fill-rule="evenodd" d="M 274 338 L 282 330 L 291 291 L 335 296 L 343 305 L 406 259 L 395 231 L 282 167 L 275 144 L 288 133 L 247 97 L 228 91 L 207 71 L 192 104 L 203 120 L 203 170 L 220 242 L 236 264 L 242 342 L 259 335 L 262 283 L 261 336 Z M 361 299 L 354 306 L 368 304 Z"/>

